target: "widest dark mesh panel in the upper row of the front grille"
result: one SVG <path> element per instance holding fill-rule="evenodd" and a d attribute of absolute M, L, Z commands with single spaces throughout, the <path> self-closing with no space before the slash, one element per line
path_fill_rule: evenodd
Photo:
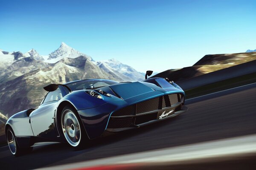
<path fill-rule="evenodd" d="M 159 97 L 137 104 L 136 114 L 158 110 Z"/>

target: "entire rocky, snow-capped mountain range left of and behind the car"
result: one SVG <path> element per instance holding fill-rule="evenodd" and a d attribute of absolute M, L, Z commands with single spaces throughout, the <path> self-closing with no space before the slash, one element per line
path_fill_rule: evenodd
<path fill-rule="evenodd" d="M 144 75 L 116 59 L 96 62 L 64 42 L 47 56 L 35 49 L 25 54 L 0 50 L 0 121 L 37 108 L 47 93 L 45 85 L 89 78 L 125 82 L 140 81 Z"/>

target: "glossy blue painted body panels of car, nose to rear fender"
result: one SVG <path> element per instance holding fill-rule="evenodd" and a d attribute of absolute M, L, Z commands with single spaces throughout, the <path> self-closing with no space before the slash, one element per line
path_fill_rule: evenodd
<path fill-rule="evenodd" d="M 99 93 L 99 90 L 110 94 L 110 96 Z M 61 87 L 61 91 L 63 94 L 66 93 L 64 87 Z M 93 91 L 102 99 L 91 96 L 88 94 L 89 91 Z M 26 111 L 17 113 L 7 121 L 6 126 L 12 127 L 14 133 L 20 137 L 29 136 L 37 137 L 38 141 L 44 139 L 60 142 L 61 129 L 58 117 L 63 108 L 61 106 L 69 104 L 77 110 L 89 139 L 93 139 L 105 132 L 113 112 L 167 94 L 185 96 L 184 91 L 177 84 L 167 82 L 163 78 L 150 78 L 142 82 L 120 82 L 93 90 L 78 90 L 64 94 L 60 100 L 43 103 L 31 114 L 26 115 Z M 34 117 L 38 117 L 38 119 L 34 119 Z M 21 126 L 31 127 L 27 131 L 29 133 L 25 133 L 24 128 L 19 128 Z"/>

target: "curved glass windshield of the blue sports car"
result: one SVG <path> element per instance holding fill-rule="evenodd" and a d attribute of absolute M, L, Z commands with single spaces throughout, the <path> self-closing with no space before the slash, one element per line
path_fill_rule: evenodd
<path fill-rule="evenodd" d="M 96 89 L 108 85 L 113 85 L 118 82 L 113 81 L 113 80 L 108 80 L 108 79 L 87 79 L 87 80 L 82 80 L 79 82 L 73 82 L 70 84 L 67 84 L 67 86 L 72 90 L 72 91 L 77 91 L 77 90 L 85 90 L 85 89 Z"/>

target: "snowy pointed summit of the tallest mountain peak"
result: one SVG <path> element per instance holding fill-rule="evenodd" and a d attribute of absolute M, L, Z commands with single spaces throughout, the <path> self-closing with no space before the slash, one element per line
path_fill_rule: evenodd
<path fill-rule="evenodd" d="M 61 46 L 57 50 L 55 50 L 51 54 L 49 54 L 49 57 L 47 58 L 47 60 L 45 60 L 45 62 L 55 63 L 55 62 L 58 62 L 59 60 L 63 59 L 64 57 L 76 58 L 79 56 L 85 56 L 88 59 L 90 59 L 91 61 L 93 61 L 93 59 L 90 56 L 87 56 L 86 54 L 83 54 L 83 53 L 75 50 L 74 48 L 68 46 L 64 42 L 61 42 Z"/>

